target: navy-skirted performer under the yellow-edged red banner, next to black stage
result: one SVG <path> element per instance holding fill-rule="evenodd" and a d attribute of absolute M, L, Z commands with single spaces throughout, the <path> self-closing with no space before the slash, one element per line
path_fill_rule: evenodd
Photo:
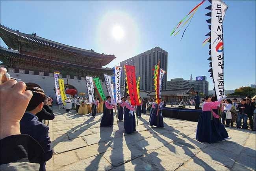
<path fill-rule="evenodd" d="M 159 98 L 159 101 L 160 101 L 159 105 L 157 103 L 154 103 L 152 105 L 152 107 L 154 106 L 154 109 L 152 111 L 152 115 L 150 118 L 150 126 L 163 128 L 163 115 L 162 115 L 163 102 L 161 97 Z"/>

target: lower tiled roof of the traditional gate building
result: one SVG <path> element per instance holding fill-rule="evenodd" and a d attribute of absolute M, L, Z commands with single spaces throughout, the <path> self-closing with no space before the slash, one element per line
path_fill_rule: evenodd
<path fill-rule="evenodd" d="M 78 68 L 78 69 L 85 69 L 85 70 L 91 70 L 91 71 L 92 70 L 93 71 L 95 71 L 95 70 L 113 71 L 113 69 L 111 69 L 111 68 L 87 67 L 87 66 L 83 66 L 83 65 L 76 65 L 76 64 L 70 64 L 67 62 L 59 62 L 56 60 L 39 58 L 37 56 L 24 55 L 21 53 L 17 53 L 17 51 L 5 49 L 3 47 L 1 47 L 1 49 L 0 49 L 0 56 L 8 56 L 10 58 L 21 59 L 21 60 L 26 60 L 26 61 L 30 61 L 30 62 L 41 62 L 44 64 L 63 66 L 66 68 Z"/>

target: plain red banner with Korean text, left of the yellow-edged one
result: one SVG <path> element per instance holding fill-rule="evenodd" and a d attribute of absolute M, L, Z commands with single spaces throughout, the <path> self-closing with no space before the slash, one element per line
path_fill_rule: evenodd
<path fill-rule="evenodd" d="M 130 95 L 130 98 L 131 98 L 131 104 L 135 106 L 139 106 L 140 104 L 139 104 L 139 97 L 137 93 L 135 66 L 124 65 L 124 71 L 126 75 L 128 94 Z"/>

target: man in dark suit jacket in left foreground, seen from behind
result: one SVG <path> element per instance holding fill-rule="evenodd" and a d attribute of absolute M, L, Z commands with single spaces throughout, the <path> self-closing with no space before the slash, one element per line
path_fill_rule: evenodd
<path fill-rule="evenodd" d="M 32 136 L 43 147 L 45 153 L 41 155 L 39 164 L 40 170 L 45 170 L 45 162 L 50 160 L 53 154 L 50 137 L 48 136 L 49 127 L 41 123 L 35 114 L 43 109 L 46 95 L 38 87 L 28 87 L 28 89 L 32 91 L 33 96 L 20 120 L 20 133 Z"/>

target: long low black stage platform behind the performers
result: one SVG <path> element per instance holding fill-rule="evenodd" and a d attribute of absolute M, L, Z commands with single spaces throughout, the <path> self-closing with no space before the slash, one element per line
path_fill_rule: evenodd
<path fill-rule="evenodd" d="M 162 115 L 169 118 L 177 118 L 197 122 L 202 109 L 187 109 L 178 107 L 164 107 Z"/>

